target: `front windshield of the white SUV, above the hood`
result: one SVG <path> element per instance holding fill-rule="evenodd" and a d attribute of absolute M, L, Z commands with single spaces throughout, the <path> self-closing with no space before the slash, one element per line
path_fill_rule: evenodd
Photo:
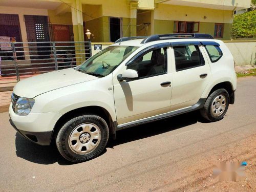
<path fill-rule="evenodd" d="M 112 73 L 136 49 L 138 47 L 110 46 L 84 61 L 77 71 L 104 77 Z"/>

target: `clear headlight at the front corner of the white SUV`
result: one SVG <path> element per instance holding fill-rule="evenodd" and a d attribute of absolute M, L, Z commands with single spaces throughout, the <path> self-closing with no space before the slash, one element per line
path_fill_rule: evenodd
<path fill-rule="evenodd" d="M 20 97 L 15 104 L 15 113 L 17 115 L 28 115 L 34 103 L 34 99 Z"/>

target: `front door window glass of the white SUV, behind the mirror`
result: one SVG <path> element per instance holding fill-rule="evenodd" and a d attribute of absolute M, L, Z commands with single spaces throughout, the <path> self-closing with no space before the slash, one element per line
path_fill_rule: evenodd
<path fill-rule="evenodd" d="M 166 48 L 146 51 L 136 58 L 127 69 L 136 70 L 139 78 L 161 75 L 167 72 Z"/>

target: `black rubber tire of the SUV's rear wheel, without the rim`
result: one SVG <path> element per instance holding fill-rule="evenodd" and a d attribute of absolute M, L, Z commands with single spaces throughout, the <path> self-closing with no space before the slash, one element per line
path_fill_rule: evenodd
<path fill-rule="evenodd" d="M 214 112 L 211 110 L 211 104 L 214 104 L 214 99 L 220 95 L 223 95 L 226 99 L 226 106 L 225 109 L 221 111 L 221 114 L 219 116 L 214 115 Z M 214 92 L 212 92 L 206 102 L 204 103 L 204 107 L 200 109 L 201 115 L 207 119 L 208 121 L 219 121 L 223 119 L 224 115 L 227 112 L 229 106 L 229 94 L 225 89 L 218 89 Z"/>

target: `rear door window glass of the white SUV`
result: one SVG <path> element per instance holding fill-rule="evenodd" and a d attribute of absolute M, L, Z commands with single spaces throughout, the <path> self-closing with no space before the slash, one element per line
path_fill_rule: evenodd
<path fill-rule="evenodd" d="M 204 65 L 204 59 L 198 46 L 174 47 L 176 71 Z"/>

